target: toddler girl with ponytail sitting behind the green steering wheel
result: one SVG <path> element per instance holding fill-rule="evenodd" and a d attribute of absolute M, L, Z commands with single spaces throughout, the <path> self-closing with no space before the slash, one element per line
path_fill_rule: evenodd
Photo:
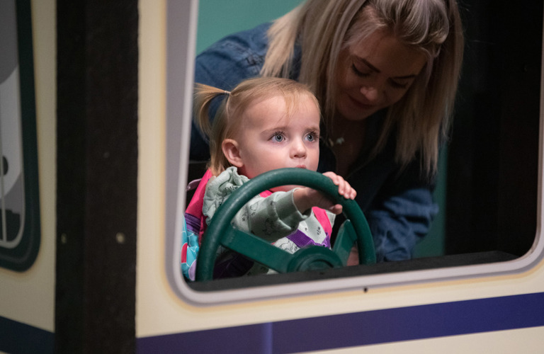
<path fill-rule="evenodd" d="M 210 127 L 208 110 L 213 98 L 225 96 Z M 319 104 L 307 86 L 290 79 L 255 78 L 232 92 L 197 84 L 196 121 L 210 137 L 210 165 L 187 207 L 188 244 L 196 246 L 217 207 L 249 179 L 261 173 L 294 167 L 317 170 L 319 162 Z M 327 172 L 339 194 L 355 198 L 356 191 L 336 173 Z M 239 210 L 232 224 L 294 253 L 311 244 L 330 248 L 334 215 L 341 212 L 312 188 L 284 185 L 260 193 Z M 192 242 L 191 242 L 192 239 Z M 192 245 L 191 245 L 192 243 Z M 182 268 L 193 280 L 195 264 L 183 259 Z M 183 267 L 183 261 L 186 261 Z M 237 253 L 221 250 L 214 278 L 263 273 L 267 269 Z M 252 267 L 252 268 L 251 268 Z"/>

